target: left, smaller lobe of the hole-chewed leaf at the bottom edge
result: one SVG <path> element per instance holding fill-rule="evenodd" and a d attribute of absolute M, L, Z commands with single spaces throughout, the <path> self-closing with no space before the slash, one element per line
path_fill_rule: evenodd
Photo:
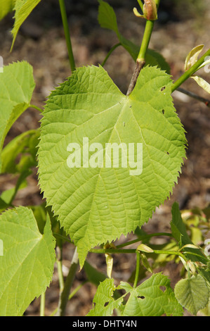
<path fill-rule="evenodd" d="M 113 278 L 101 282 L 93 299 L 95 307 L 89 311 L 87 316 L 112 316 L 114 309 L 119 308 L 123 301 L 123 297 L 114 300 L 115 289 Z"/>

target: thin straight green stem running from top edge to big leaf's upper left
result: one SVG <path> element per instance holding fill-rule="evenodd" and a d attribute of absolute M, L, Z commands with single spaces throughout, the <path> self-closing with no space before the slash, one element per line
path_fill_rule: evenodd
<path fill-rule="evenodd" d="M 76 69 L 75 67 L 75 62 L 74 62 L 74 55 L 72 51 L 72 42 L 70 38 L 70 29 L 68 25 L 68 20 L 67 20 L 67 13 L 66 13 L 66 8 L 65 8 L 65 0 L 59 0 L 60 4 L 60 13 L 63 21 L 63 29 L 65 33 L 65 40 L 67 44 L 67 50 L 69 54 L 69 60 L 70 60 L 70 66 L 72 69 L 72 72 Z"/>

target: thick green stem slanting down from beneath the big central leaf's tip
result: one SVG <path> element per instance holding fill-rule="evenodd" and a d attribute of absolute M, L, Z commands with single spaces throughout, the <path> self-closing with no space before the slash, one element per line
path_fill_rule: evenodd
<path fill-rule="evenodd" d="M 56 316 L 65 316 L 65 309 L 67 306 L 67 302 L 69 300 L 70 291 L 72 288 L 75 274 L 77 273 L 78 266 L 79 266 L 79 259 L 78 259 L 77 249 L 75 249 L 74 256 L 72 258 L 72 264 L 70 266 L 69 273 L 65 280 L 63 292 L 60 295 L 60 299 L 58 303 L 58 311 L 56 313 Z"/>

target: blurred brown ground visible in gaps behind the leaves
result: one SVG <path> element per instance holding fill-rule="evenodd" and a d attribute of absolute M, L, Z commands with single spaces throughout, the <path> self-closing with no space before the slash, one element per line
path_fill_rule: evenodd
<path fill-rule="evenodd" d="M 70 33 L 72 46 L 77 67 L 81 65 L 98 65 L 102 63 L 107 51 L 117 43 L 114 32 L 103 30 L 97 21 L 97 1 L 66 1 L 68 18 L 70 21 Z M 173 8 L 174 1 L 163 1 L 160 7 L 159 22 L 155 23 L 155 30 L 152 34 L 150 48 L 159 51 L 171 66 L 171 75 L 176 80 L 184 68 L 185 56 L 195 46 L 204 44 L 204 51 L 209 49 L 209 19 L 210 3 L 201 1 L 204 11 L 181 11 L 180 7 Z M 143 20 L 133 15 L 132 8 L 136 1 L 110 1 L 117 13 L 119 30 L 124 37 L 132 39 L 140 44 L 143 36 Z M 169 5 L 171 4 L 171 5 Z M 13 51 L 11 47 L 11 27 L 13 15 L 8 15 L 0 23 L 0 55 L 4 58 L 4 65 L 13 61 L 26 60 L 34 68 L 34 80 L 36 88 L 33 94 L 32 104 L 39 107 L 44 106 L 44 101 L 51 90 L 63 82 L 70 75 L 67 49 L 63 27 L 60 20 L 58 1 L 41 1 L 39 6 L 22 25 L 20 33 L 15 42 Z M 114 51 L 105 65 L 110 77 L 117 84 L 122 92 L 126 89 L 131 80 L 135 63 L 131 56 L 119 47 Z M 200 75 L 209 81 L 209 73 L 200 70 Z M 209 98 L 210 96 L 197 87 L 193 80 L 188 80 L 183 88 Z M 170 231 L 171 205 L 178 201 L 180 208 L 193 208 L 195 206 L 204 208 L 210 203 L 210 111 L 201 102 L 181 94 L 173 93 L 174 104 L 181 122 L 186 130 L 188 139 L 187 157 L 183 165 L 178 185 L 173 189 L 171 199 L 164 205 L 157 208 L 152 220 L 143 226 L 146 232 L 167 232 Z M 25 130 L 39 127 L 41 115 L 38 111 L 30 108 L 20 116 L 13 125 L 6 137 L 6 144 L 16 135 Z M 13 178 L 10 175 L 0 176 L 1 192 L 13 186 Z M 41 195 L 37 187 L 37 170 L 28 179 L 28 187 L 22 189 L 15 201 L 16 206 L 29 204 L 40 204 Z M 133 239 L 129 235 L 127 239 Z M 126 238 L 122 237 L 120 242 Z M 162 239 L 158 239 L 161 243 Z M 157 241 L 156 241 L 157 242 Z M 64 248 L 64 274 L 70 267 L 74 246 L 65 245 Z M 130 255 L 130 254 L 129 254 Z M 105 273 L 105 258 L 96 254 L 88 254 L 88 261 L 98 270 Z M 114 256 L 113 277 L 117 280 L 128 280 L 135 269 L 134 256 Z M 174 286 L 180 278 L 181 266 L 169 263 L 164 268 L 164 274 L 171 278 L 171 285 Z M 86 280 L 83 270 L 77 273 L 74 281 L 74 288 Z M 67 316 L 84 316 L 91 308 L 91 302 L 96 287 L 86 283 L 77 292 L 67 306 Z M 55 266 L 55 274 L 51 287 L 46 292 L 46 316 L 50 316 L 58 304 L 58 275 Z M 27 308 L 26 316 L 39 315 L 39 299 Z M 188 313 L 185 313 L 188 315 Z"/>

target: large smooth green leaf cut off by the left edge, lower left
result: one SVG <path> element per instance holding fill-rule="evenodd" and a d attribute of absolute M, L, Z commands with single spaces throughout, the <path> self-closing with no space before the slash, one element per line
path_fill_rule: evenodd
<path fill-rule="evenodd" d="M 0 316 L 22 316 L 51 282 L 55 242 L 48 219 L 41 235 L 32 211 L 18 207 L 0 216 Z"/>

